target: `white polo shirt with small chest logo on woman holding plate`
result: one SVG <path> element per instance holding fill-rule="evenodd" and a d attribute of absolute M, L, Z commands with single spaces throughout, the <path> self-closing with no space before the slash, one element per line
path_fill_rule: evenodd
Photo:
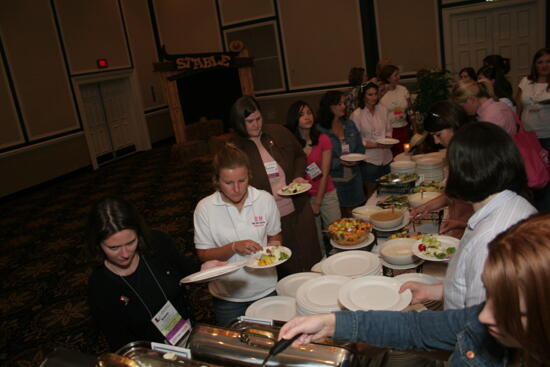
<path fill-rule="evenodd" d="M 275 199 L 266 191 L 248 187 L 248 196 L 239 210 L 222 200 L 216 191 L 202 199 L 193 215 L 195 247 L 199 250 L 222 247 L 228 243 L 252 240 L 267 246 L 267 236 L 281 232 L 281 216 Z M 237 262 L 245 256 L 234 254 L 227 261 Z M 218 298 L 247 302 L 273 292 L 277 284 L 275 268 L 242 268 L 208 284 L 210 293 Z"/>

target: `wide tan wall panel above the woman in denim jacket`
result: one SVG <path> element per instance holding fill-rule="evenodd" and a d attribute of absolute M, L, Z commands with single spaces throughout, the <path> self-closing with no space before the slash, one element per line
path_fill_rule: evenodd
<path fill-rule="evenodd" d="M 347 83 L 350 67 L 365 64 L 358 1 L 278 4 L 291 89 Z"/>

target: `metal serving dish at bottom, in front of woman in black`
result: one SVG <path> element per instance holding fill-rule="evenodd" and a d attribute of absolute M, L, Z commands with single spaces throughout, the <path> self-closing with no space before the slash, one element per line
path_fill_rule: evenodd
<path fill-rule="evenodd" d="M 151 342 L 146 341 L 126 344 L 116 352 L 116 355 L 134 361 L 139 367 L 217 367 L 217 365 L 211 363 L 191 360 L 178 355 L 173 355 L 172 359 L 166 359 L 165 354 L 165 352 L 151 349 Z M 194 356 L 192 357 L 194 358 Z M 134 367 L 132 364 L 128 367 L 130 366 Z"/>

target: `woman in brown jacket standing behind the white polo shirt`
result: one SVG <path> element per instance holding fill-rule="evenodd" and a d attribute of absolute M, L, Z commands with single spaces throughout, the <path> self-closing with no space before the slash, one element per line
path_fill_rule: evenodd
<path fill-rule="evenodd" d="M 279 265 L 279 278 L 309 271 L 321 260 L 313 211 L 307 193 L 282 197 L 277 191 L 291 182 L 304 182 L 306 156 L 300 143 L 283 125 L 263 124 L 258 102 L 250 96 L 239 98 L 231 108 L 235 144 L 250 159 L 251 185 L 275 197 L 281 213 L 283 245 L 292 257 Z"/>

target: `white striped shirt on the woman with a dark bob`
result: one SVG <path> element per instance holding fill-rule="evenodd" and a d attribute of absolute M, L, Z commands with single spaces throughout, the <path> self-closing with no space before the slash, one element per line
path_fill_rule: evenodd
<path fill-rule="evenodd" d="M 536 212 L 523 197 L 505 190 L 470 217 L 458 251 L 447 268 L 443 286 L 445 309 L 459 309 L 485 301 L 481 274 L 489 254 L 487 245 L 499 233 Z"/>

